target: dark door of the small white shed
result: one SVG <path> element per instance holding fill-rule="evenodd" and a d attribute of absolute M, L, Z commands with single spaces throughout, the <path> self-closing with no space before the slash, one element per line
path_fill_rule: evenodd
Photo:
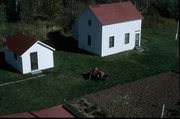
<path fill-rule="evenodd" d="M 30 58 L 31 58 L 31 70 L 38 69 L 37 52 L 30 53 Z"/>

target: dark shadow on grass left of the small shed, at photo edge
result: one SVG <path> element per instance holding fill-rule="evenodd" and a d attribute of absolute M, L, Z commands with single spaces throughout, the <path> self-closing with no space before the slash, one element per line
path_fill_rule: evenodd
<path fill-rule="evenodd" d="M 19 73 L 16 69 L 5 62 L 4 52 L 0 52 L 0 70 Z"/>

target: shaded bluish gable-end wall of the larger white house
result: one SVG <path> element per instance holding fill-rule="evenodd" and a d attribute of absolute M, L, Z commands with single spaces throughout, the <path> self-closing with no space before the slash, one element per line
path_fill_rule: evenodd
<path fill-rule="evenodd" d="M 88 25 L 91 20 L 91 26 Z M 102 26 L 94 14 L 87 8 L 78 18 L 78 47 L 96 55 L 101 55 Z M 88 46 L 88 35 L 91 35 L 91 46 Z"/>

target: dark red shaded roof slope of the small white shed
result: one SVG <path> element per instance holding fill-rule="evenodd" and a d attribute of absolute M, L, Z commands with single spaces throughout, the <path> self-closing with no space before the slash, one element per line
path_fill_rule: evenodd
<path fill-rule="evenodd" d="M 4 42 L 4 45 L 18 55 L 22 55 L 36 42 L 37 40 L 31 37 L 28 37 L 21 33 L 16 33 L 12 35 L 9 40 Z"/>

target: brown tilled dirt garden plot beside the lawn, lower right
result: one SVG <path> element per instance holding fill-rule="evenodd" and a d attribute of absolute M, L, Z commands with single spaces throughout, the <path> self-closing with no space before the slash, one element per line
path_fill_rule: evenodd
<path fill-rule="evenodd" d="M 160 118 L 165 104 L 164 117 L 169 117 L 179 102 L 179 74 L 163 73 L 82 97 L 110 117 Z M 79 99 L 72 99 L 76 104 Z"/>

